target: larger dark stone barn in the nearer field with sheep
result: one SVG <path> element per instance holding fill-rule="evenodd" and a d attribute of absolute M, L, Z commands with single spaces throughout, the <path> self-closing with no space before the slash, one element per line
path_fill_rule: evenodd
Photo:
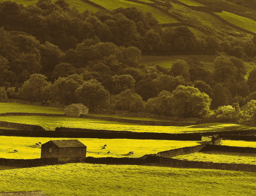
<path fill-rule="evenodd" d="M 59 158 L 59 163 L 85 161 L 86 146 L 78 140 L 50 140 L 41 145 L 41 158 Z"/>

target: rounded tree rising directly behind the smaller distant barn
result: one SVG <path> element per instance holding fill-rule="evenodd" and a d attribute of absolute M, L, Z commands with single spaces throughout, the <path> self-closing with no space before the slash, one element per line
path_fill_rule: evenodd
<path fill-rule="evenodd" d="M 75 96 L 92 112 L 100 107 L 107 107 L 110 97 L 109 92 L 96 79 L 84 82 L 76 89 Z"/>

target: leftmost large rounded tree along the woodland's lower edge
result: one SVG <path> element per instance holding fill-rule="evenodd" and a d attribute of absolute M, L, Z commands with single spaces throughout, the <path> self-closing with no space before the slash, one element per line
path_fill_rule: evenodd
<path fill-rule="evenodd" d="M 42 101 L 43 89 L 49 84 L 43 74 L 32 74 L 18 90 L 18 97 L 29 101 Z"/>

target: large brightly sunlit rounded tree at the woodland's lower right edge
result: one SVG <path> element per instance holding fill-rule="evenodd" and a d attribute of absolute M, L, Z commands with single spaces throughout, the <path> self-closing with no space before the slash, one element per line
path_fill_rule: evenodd
<path fill-rule="evenodd" d="M 178 86 L 171 96 L 173 116 L 205 118 L 210 114 L 211 99 L 191 86 Z"/>

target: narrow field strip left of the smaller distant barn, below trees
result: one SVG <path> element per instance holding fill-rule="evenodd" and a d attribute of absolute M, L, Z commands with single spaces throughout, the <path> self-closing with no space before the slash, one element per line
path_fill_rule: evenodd
<path fill-rule="evenodd" d="M 26 105 L 20 103 L 0 103 L 0 113 L 7 112 L 64 114 L 64 108 L 48 107 L 41 105 Z"/>

